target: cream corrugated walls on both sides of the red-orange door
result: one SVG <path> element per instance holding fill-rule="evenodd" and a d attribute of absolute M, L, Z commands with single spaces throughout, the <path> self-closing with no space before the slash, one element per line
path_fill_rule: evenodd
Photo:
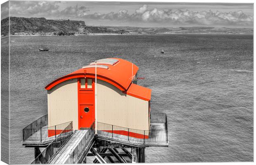
<path fill-rule="evenodd" d="M 48 125 L 73 121 L 78 130 L 77 79 L 66 80 L 47 91 Z M 149 130 L 148 101 L 126 94 L 97 79 L 97 121 L 137 130 Z"/>

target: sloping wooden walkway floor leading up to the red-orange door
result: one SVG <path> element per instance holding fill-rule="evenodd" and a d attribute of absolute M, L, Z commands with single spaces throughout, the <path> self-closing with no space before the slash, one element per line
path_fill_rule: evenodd
<path fill-rule="evenodd" d="M 73 136 L 66 142 L 66 144 L 59 150 L 59 152 L 55 155 L 52 160 L 50 160 L 50 164 L 64 164 L 69 159 L 70 154 L 73 150 L 79 145 L 79 142 L 83 137 L 85 137 L 86 133 L 89 130 L 76 130 Z"/>

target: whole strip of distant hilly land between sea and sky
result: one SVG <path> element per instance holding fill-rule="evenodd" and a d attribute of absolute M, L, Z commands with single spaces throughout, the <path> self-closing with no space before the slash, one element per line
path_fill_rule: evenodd
<path fill-rule="evenodd" d="M 1 20 L 1 37 L 8 35 L 9 17 Z M 85 26 L 84 21 L 52 20 L 45 18 L 10 17 L 10 35 L 78 35 L 90 33 L 158 34 L 158 33 L 244 33 L 253 28 L 177 27 L 141 28 L 130 26 Z"/>

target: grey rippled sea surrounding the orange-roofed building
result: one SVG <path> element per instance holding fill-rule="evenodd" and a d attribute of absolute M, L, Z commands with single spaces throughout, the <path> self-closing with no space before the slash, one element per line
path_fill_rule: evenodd
<path fill-rule="evenodd" d="M 47 114 L 44 87 L 107 57 L 139 66 L 152 111 L 168 115 L 169 147 L 146 162 L 253 161 L 253 35 L 175 34 L 11 37 L 10 163 L 33 160 L 22 128 Z"/>

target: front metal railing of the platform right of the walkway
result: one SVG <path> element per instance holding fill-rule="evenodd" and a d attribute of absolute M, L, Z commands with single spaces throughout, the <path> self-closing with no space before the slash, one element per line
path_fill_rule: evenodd
<path fill-rule="evenodd" d="M 168 143 L 168 132 L 163 130 L 136 130 L 97 122 L 98 136 L 138 144 Z"/>

